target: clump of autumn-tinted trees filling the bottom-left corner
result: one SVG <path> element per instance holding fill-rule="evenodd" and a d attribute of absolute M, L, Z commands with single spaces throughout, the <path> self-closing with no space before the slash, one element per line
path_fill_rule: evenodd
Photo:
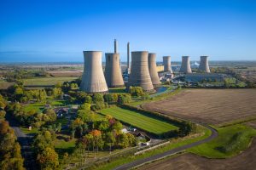
<path fill-rule="evenodd" d="M 23 161 L 14 130 L 8 122 L 0 121 L 0 169 L 23 170 Z"/>

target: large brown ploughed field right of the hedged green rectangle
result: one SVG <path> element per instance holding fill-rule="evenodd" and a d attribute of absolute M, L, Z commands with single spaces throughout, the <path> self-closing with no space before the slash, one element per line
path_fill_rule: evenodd
<path fill-rule="evenodd" d="M 255 117 L 255 101 L 256 89 L 185 89 L 172 98 L 144 104 L 143 108 L 218 125 Z"/>

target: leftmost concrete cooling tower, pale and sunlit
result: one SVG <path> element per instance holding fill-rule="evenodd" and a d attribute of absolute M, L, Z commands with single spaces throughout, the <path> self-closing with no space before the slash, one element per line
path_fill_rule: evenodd
<path fill-rule="evenodd" d="M 84 74 L 80 90 L 93 93 L 108 93 L 108 86 L 102 70 L 102 52 L 84 51 Z"/>

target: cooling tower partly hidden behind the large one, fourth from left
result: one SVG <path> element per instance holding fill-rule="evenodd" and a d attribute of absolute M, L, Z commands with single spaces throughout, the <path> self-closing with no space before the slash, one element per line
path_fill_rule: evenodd
<path fill-rule="evenodd" d="M 159 85 L 160 80 L 156 70 L 155 54 L 153 53 L 148 54 L 148 71 L 149 71 L 149 75 L 151 77 L 151 81 L 153 85 L 154 86 Z"/>

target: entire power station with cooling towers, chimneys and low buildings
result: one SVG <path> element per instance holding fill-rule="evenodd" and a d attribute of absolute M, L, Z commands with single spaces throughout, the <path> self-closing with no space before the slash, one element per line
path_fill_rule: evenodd
<path fill-rule="evenodd" d="M 156 54 L 148 51 L 132 51 L 130 61 L 130 42 L 127 42 L 127 65 L 123 72 L 118 53 L 118 42 L 114 39 L 113 53 L 106 53 L 105 71 L 102 69 L 102 52 L 84 51 L 84 74 L 80 90 L 94 93 L 108 93 L 108 88 L 138 86 L 148 93 L 154 93 L 154 88 L 162 82 L 171 81 L 177 77 L 184 77 L 186 82 L 202 80 L 220 80 L 221 75 L 209 74 L 208 56 L 201 56 L 199 73 L 192 73 L 189 56 L 182 57 L 179 69 L 172 71 L 171 56 L 163 56 L 162 65 L 156 64 Z M 177 72 L 178 70 L 178 72 Z M 124 81 L 125 80 L 125 81 Z"/>

